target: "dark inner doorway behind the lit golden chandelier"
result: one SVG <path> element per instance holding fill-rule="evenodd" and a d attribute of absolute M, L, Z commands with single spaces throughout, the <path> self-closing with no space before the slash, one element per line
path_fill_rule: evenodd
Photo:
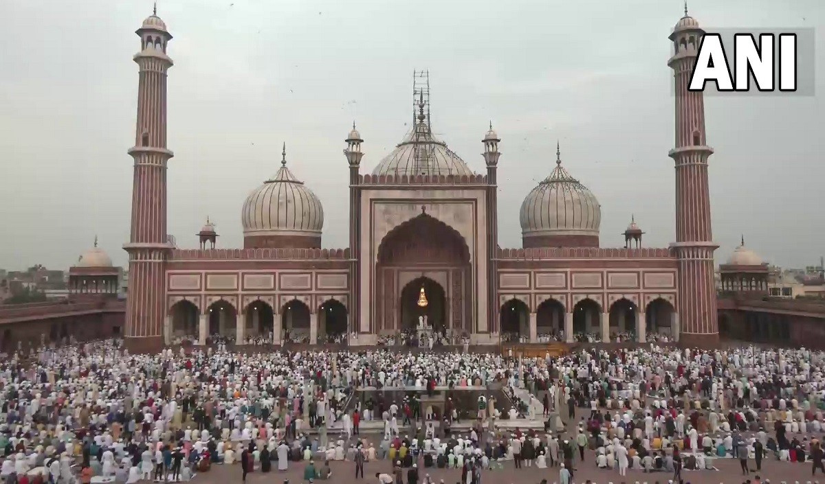
<path fill-rule="evenodd" d="M 423 299 L 427 300 L 427 305 L 423 307 L 418 305 L 418 300 L 422 299 L 422 289 L 424 290 Z M 428 277 L 418 277 L 408 282 L 401 291 L 399 305 L 401 314 L 398 321 L 401 322 L 401 331 L 415 331 L 420 318 L 423 318 L 422 321 L 427 321 L 427 324 L 438 333 L 446 328 L 447 310 L 444 288 Z"/>

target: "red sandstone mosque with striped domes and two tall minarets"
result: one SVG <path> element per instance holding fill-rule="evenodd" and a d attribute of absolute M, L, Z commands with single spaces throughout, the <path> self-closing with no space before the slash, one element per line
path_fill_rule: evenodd
<path fill-rule="evenodd" d="M 475 173 L 433 133 L 427 76 L 414 82 L 413 128 L 389 155 L 364 163 L 369 147 L 353 125 L 342 142 L 349 169 L 349 247 L 321 249 L 323 205 L 292 170 L 240 204 L 243 248 L 220 248 L 214 224 L 181 249 L 167 235 L 167 72 L 172 35 L 156 15 L 137 30 L 137 129 L 125 341 L 154 351 L 180 337 L 285 335 L 319 343 L 348 333 L 351 345 L 381 335 L 434 330 L 494 345 L 517 335 L 577 333 L 606 340 L 667 333 L 691 345 L 718 341 L 704 101 L 686 89 L 704 30 L 681 18 L 669 37 L 676 91 L 676 237 L 648 248 L 631 219 L 625 246 L 600 247 L 601 207 L 582 181 L 555 167 L 521 204 L 520 248 L 497 244 L 497 168 L 502 140 L 480 133 L 486 172 Z M 346 131 L 346 130 L 343 130 Z M 506 146 L 506 144 L 504 145 Z M 369 165 L 369 166 L 367 166 Z M 374 167 L 372 167 L 374 165 Z M 371 169 L 370 169 L 371 168 Z M 515 214 L 507 214 L 515 215 Z M 178 242 L 182 242 L 179 240 Z"/>

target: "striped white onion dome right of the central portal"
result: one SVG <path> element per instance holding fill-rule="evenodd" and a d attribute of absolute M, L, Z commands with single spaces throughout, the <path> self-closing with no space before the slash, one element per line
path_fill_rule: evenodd
<path fill-rule="evenodd" d="M 562 167 L 533 188 L 519 214 L 522 244 L 530 247 L 598 247 L 601 207 L 596 196 Z"/>

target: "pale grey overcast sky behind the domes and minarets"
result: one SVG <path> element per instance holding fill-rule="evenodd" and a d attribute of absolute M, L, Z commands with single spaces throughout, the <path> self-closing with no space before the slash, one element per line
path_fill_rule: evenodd
<path fill-rule="evenodd" d="M 139 50 L 151 0 L 3 0 L 0 268 L 68 268 L 92 245 L 125 264 Z M 825 25 L 822 0 L 691 0 L 705 27 Z M 160 0 L 168 54 L 168 230 L 195 247 L 206 216 L 240 247 L 247 193 L 290 169 L 318 194 L 323 245 L 347 244 L 343 139 L 362 173 L 412 118 L 413 69 L 431 75 L 433 128 L 483 173 L 502 137 L 499 244 L 521 246 L 522 199 L 563 165 L 601 202 L 601 245 L 631 213 L 647 246 L 674 239 L 674 99 L 667 35 L 681 0 Z M 817 32 L 823 45 L 822 32 Z M 786 267 L 823 247 L 823 58 L 816 97 L 708 96 L 714 240 Z"/>

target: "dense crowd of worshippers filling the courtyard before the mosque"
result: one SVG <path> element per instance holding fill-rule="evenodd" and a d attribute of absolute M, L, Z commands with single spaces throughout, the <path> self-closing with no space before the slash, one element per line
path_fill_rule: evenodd
<path fill-rule="evenodd" d="M 215 463 L 239 463 L 245 477 L 290 461 L 323 478 L 328 462 L 360 462 L 363 474 L 364 462 L 382 458 L 393 461 L 394 482 L 396 468 L 409 476 L 434 467 L 461 468 L 462 482 L 478 484 L 507 461 L 558 466 L 562 481 L 582 465 L 677 480 L 681 469 L 714 468 L 719 458 L 739 459 L 745 473 L 766 458 L 825 472 L 823 352 L 652 345 L 539 358 L 466 348 L 240 354 L 231 343 L 132 355 L 107 340 L 8 356 L 0 362 L 0 479 L 186 481 Z M 460 431 L 457 407 L 436 412 L 415 397 L 360 391 L 484 393 L 491 385 L 512 402 L 479 397 L 472 426 Z M 518 419 L 546 419 L 544 430 L 502 426 Z M 375 440 L 359 431 L 364 421 L 383 421 Z"/>

